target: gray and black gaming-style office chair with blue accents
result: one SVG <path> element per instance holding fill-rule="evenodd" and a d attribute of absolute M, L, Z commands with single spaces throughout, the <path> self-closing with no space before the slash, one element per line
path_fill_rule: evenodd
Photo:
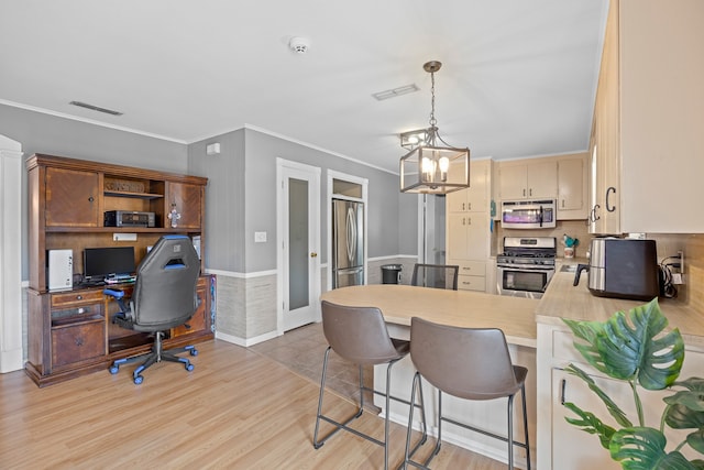
<path fill-rule="evenodd" d="M 193 346 L 163 350 L 162 340 L 166 331 L 182 325 L 198 308 L 196 284 L 200 275 L 200 261 L 187 236 L 164 236 L 144 256 L 136 271 L 136 280 L 129 305 L 124 292 L 105 289 L 106 295 L 114 297 L 122 311 L 116 314 L 112 321 L 122 328 L 135 331 L 154 332 L 154 346 L 146 354 L 118 359 L 110 367 L 110 373 L 117 374 L 120 365 L 144 360 L 133 372 L 135 384 L 142 383 L 142 372 L 161 361 L 180 362 L 187 371 L 194 365 L 186 358 L 176 354 L 188 351 L 197 356 Z"/>

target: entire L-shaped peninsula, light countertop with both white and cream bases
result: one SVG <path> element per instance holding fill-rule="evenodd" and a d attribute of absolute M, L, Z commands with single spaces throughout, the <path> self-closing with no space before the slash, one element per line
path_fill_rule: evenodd
<path fill-rule="evenodd" d="M 588 292 L 584 281 L 579 286 L 573 286 L 573 271 L 558 270 L 540 300 L 405 285 L 345 287 L 327 292 L 321 299 L 349 306 L 378 307 L 384 314 L 389 334 L 398 338 L 409 337 L 410 318 L 414 316 L 453 326 L 503 329 L 513 360 L 529 370 L 526 382 L 528 428 L 531 455 L 537 460 L 537 468 L 568 468 L 565 463 L 570 462 L 569 468 L 574 470 L 618 469 L 619 466 L 601 448 L 595 436 L 579 430 L 564 419 L 566 409 L 561 404 L 562 400 L 581 403 L 590 409 L 602 409 L 600 406 L 603 405 L 594 403 L 591 392 L 580 387 L 581 383 L 563 371 L 568 363 L 579 362 L 583 369 L 594 372 L 576 353 L 572 335 L 562 318 L 603 321 L 617 310 L 627 311 L 645 302 L 595 297 Z M 686 354 L 681 378 L 704 375 L 704 316 L 670 299 L 660 300 L 660 308 L 669 319 L 669 328 L 679 328 L 685 341 Z M 414 373 L 409 358 L 399 361 L 392 374 L 392 393 L 409 397 Z M 597 375 L 594 374 L 595 380 L 618 403 L 632 402 L 630 390 Z M 383 387 L 385 380 L 383 371 L 375 371 L 376 386 Z M 429 389 L 426 396 L 430 396 L 428 392 Z M 649 392 L 645 397 L 646 407 L 653 415 L 659 416 L 661 413 L 662 396 L 661 392 Z M 426 398 L 426 402 L 431 401 Z M 375 403 L 383 406 L 381 401 Z M 457 415 L 471 416 L 474 423 L 491 430 L 501 433 L 505 429 L 503 402 L 454 402 L 446 409 L 451 409 Z M 519 412 L 519 407 L 517 411 Z M 432 413 L 435 411 L 429 408 L 429 416 Z M 600 411 L 598 415 L 606 413 Z M 391 417 L 405 425 L 407 409 L 392 406 Z M 659 425 L 652 416 L 648 423 Z M 519 423 L 516 426 L 514 435 L 519 436 L 522 429 Z M 496 446 L 493 439 L 484 436 L 452 434 L 450 430 L 454 433 L 454 429 L 443 429 L 443 439 L 505 461 L 505 446 Z M 516 455 L 517 461 L 522 456 Z"/>

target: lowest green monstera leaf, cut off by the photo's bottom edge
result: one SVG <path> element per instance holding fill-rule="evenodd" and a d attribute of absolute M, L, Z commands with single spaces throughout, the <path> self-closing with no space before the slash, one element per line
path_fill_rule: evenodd
<path fill-rule="evenodd" d="M 695 470 L 693 463 L 679 451 L 666 452 L 667 439 L 658 429 L 630 427 L 617 430 L 612 437 L 612 459 L 624 470 Z"/>

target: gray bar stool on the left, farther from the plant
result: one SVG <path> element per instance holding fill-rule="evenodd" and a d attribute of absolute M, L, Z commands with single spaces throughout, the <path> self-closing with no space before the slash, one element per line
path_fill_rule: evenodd
<path fill-rule="evenodd" d="M 344 429 L 355 436 L 362 437 L 376 445 L 384 447 L 384 469 L 388 468 L 388 415 L 391 400 L 405 403 L 411 406 L 407 400 L 392 396 L 389 393 L 392 367 L 405 358 L 409 352 L 409 341 L 391 338 L 382 311 L 376 307 L 346 307 L 322 302 L 322 330 L 328 340 L 324 359 L 322 362 L 322 378 L 320 379 L 320 396 L 318 398 L 318 415 L 316 416 L 316 430 L 314 433 L 314 447 L 319 449 L 330 437 L 340 429 Z M 338 422 L 322 414 L 323 393 L 326 387 L 326 374 L 328 371 L 328 359 L 330 350 L 333 350 L 342 359 L 359 365 L 360 369 L 360 404 L 356 413 L 349 418 Z M 386 367 L 386 391 L 380 392 L 364 385 L 363 365 L 387 364 Z M 386 398 L 384 419 L 384 440 L 376 439 L 370 435 L 361 433 L 348 425 L 362 416 L 364 409 L 364 392 L 373 392 Z M 425 413 L 421 424 L 421 438 L 416 444 L 416 448 L 425 442 L 426 420 Z M 332 424 L 336 428 L 327 436 L 318 438 L 320 420 Z M 409 437 L 410 439 L 410 437 Z M 406 446 L 409 446 L 407 442 Z"/>

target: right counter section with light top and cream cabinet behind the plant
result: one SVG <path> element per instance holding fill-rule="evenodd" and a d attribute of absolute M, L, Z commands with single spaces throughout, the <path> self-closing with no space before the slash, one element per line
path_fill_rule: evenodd
<path fill-rule="evenodd" d="M 587 371 L 619 406 L 632 406 L 632 392 L 624 383 L 605 378 L 591 369 L 579 356 L 573 346 L 573 336 L 562 318 L 574 320 L 604 321 L 615 311 L 628 311 L 645 304 L 645 300 L 625 300 L 593 296 L 586 287 L 586 280 L 573 286 L 574 272 L 558 270 L 544 296 L 536 309 L 537 321 L 537 459 L 538 468 L 563 469 L 570 462 L 572 470 L 600 468 L 619 469 L 620 466 L 610 460 L 608 452 L 598 444 L 595 436 L 569 425 L 564 417 L 569 414 L 562 402 L 572 402 L 585 409 L 594 411 L 597 416 L 608 416 L 604 405 L 594 398 L 592 392 L 579 379 L 564 372 L 570 362 Z M 689 376 L 704 376 L 704 315 L 683 305 L 681 302 L 661 298 L 660 309 L 668 318 L 668 329 L 679 328 L 685 343 L 685 359 L 680 374 L 684 380 Z M 662 397 L 672 392 L 641 392 L 646 409 L 646 424 L 659 427 L 660 415 L 664 407 Z M 634 417 L 632 411 L 625 407 Z M 666 433 L 667 434 L 667 433 Z M 670 436 L 674 433 L 671 433 Z M 680 442 L 669 438 L 672 442 Z M 684 452 L 686 455 L 686 452 Z M 690 456 L 691 458 L 691 456 Z"/>

